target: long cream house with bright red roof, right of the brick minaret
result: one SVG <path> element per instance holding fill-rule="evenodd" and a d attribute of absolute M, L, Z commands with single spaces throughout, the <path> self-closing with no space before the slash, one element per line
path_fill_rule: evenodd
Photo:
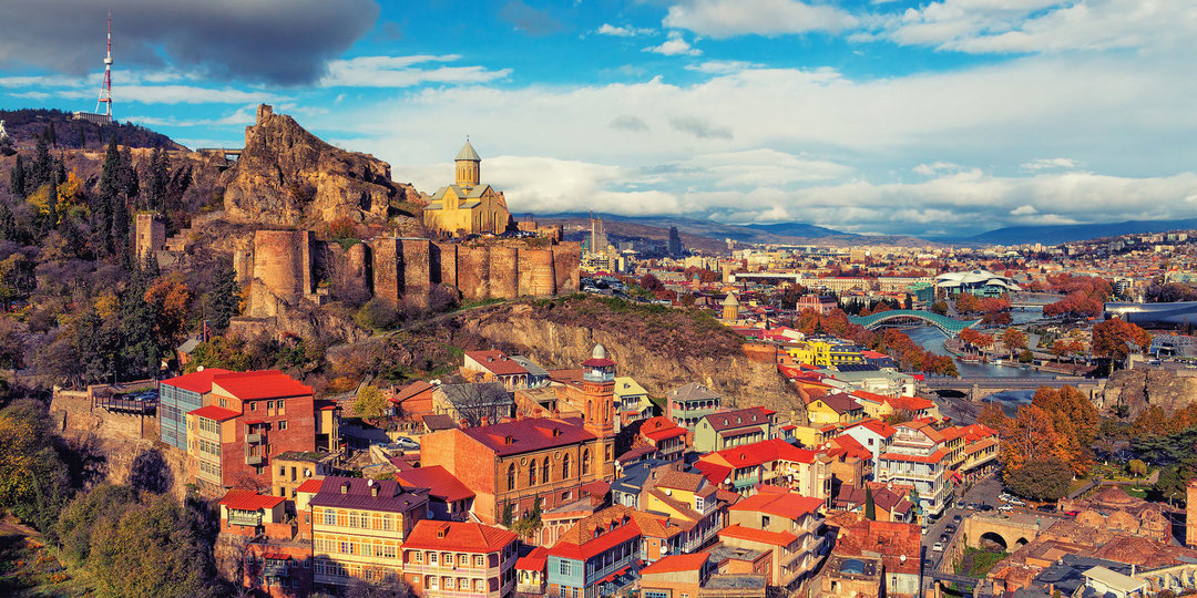
<path fill-rule="evenodd" d="M 827 462 L 779 438 L 706 453 L 694 466 L 712 483 L 746 496 L 755 494 L 761 484 L 792 488 L 820 499 L 831 493 Z"/>

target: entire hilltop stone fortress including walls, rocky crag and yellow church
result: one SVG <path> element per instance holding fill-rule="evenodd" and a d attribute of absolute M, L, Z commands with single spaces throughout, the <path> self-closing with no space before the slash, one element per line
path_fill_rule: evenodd
<path fill-rule="evenodd" d="M 393 183 L 389 164 L 330 146 L 262 105 L 245 128 L 245 147 L 221 173 L 223 213 L 193 218 L 193 228 L 171 239 L 154 214 L 138 214 L 136 252 L 163 262 L 192 243 L 177 237 L 231 251 L 248 289 L 233 327 L 244 331 L 294 329 L 304 307 L 350 295 L 399 306 L 427 305 L 438 286 L 466 301 L 577 292 L 581 246 L 561 243 L 560 226 L 514 222 L 503 194 L 480 184 L 481 159 L 468 141 L 456 163 L 456 183 L 430 199 Z M 423 209 L 396 214 L 396 202 Z M 317 238 L 338 218 L 370 236 Z M 236 232 L 217 238 L 221 227 Z M 498 236 L 516 230 L 523 233 Z M 462 233 L 469 237 L 448 239 Z"/>

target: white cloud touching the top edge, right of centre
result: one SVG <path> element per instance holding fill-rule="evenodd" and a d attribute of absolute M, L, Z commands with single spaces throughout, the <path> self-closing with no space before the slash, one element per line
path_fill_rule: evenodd
<path fill-rule="evenodd" d="M 742 35 L 834 33 L 855 28 L 857 19 L 834 6 L 798 0 L 682 0 L 669 7 L 662 24 L 723 39 Z"/>

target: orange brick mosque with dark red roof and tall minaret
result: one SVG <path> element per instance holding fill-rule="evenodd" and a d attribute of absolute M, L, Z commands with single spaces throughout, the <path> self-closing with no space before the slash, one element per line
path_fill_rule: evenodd
<path fill-rule="evenodd" d="M 583 486 L 614 478 L 615 362 L 602 346 L 583 364 L 583 419 L 509 420 L 420 438 L 423 464 L 439 465 L 474 492 L 485 524 L 515 518 L 540 501 L 545 512 L 584 499 Z"/>

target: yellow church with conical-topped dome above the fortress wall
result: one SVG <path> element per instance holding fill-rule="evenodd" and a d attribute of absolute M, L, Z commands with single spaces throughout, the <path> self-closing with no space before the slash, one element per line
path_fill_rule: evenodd
<path fill-rule="evenodd" d="M 457 181 L 432 195 L 432 202 L 424 208 L 424 226 L 450 234 L 506 231 L 511 225 L 508 200 L 491 185 L 481 184 L 482 159 L 468 140 L 456 161 Z"/>

